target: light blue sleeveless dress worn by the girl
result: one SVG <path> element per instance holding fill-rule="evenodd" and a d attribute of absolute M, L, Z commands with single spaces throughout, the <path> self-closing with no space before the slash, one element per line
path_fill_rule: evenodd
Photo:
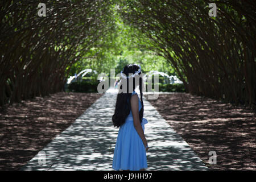
<path fill-rule="evenodd" d="M 134 91 L 132 95 L 134 94 L 137 93 Z M 139 100 L 139 110 L 141 110 L 141 107 L 141 100 Z M 141 123 L 143 131 L 144 124 L 146 123 L 147 119 L 143 118 Z M 146 150 L 141 137 L 139 137 L 134 127 L 133 114 L 131 111 L 125 123 L 119 127 L 112 168 L 115 170 L 129 169 L 131 171 L 147 168 Z"/>

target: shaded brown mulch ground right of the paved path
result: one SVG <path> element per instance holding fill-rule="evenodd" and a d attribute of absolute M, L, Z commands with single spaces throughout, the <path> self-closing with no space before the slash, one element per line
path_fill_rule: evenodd
<path fill-rule="evenodd" d="M 209 168 L 256 170 L 254 110 L 188 93 L 148 101 Z M 208 163 L 209 151 L 216 152 L 217 164 Z"/>

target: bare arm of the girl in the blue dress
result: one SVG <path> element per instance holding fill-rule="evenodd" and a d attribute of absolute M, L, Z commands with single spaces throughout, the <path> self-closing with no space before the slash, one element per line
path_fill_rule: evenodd
<path fill-rule="evenodd" d="M 147 140 L 145 138 L 142 126 L 141 126 L 141 121 L 139 120 L 139 98 L 138 96 L 135 96 L 137 94 L 134 94 L 131 96 L 131 113 L 133 114 L 133 124 L 136 129 L 136 131 L 139 134 L 139 137 L 141 137 L 144 146 L 147 146 Z"/>

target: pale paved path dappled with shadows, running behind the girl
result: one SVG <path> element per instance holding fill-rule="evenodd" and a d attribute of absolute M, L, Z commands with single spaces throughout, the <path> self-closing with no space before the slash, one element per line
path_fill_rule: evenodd
<path fill-rule="evenodd" d="M 113 170 L 113 152 L 118 134 L 118 129 L 112 125 L 116 96 L 117 92 L 108 90 L 40 151 L 45 152 L 45 160 L 38 154 L 21 170 Z M 147 170 L 207 170 L 187 142 L 150 102 L 143 101 L 144 118 L 148 120 L 145 135 L 150 147 Z"/>

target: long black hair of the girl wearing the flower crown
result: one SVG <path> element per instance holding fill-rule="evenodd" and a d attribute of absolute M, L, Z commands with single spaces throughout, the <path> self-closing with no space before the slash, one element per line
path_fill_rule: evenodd
<path fill-rule="evenodd" d="M 129 76 L 129 73 L 134 74 L 136 71 L 139 70 L 139 67 L 137 64 L 127 64 L 124 68 L 123 68 L 123 73 L 126 76 Z M 141 73 L 138 73 L 138 75 L 141 75 Z M 123 123 L 125 123 L 125 120 L 127 118 L 127 116 L 130 113 L 131 110 L 131 93 L 129 93 L 129 79 L 133 79 L 133 91 L 135 90 L 135 78 L 134 77 L 130 77 L 130 78 L 126 78 L 125 81 L 127 81 L 127 92 L 123 93 L 121 91 L 122 89 L 122 84 L 119 87 L 118 90 L 118 94 L 117 94 L 117 101 L 115 103 L 115 113 L 112 116 L 112 121 L 113 121 L 113 125 L 120 127 L 121 125 L 123 125 Z M 122 78 L 123 81 L 123 78 Z M 121 81 L 121 83 L 122 83 Z M 143 118 L 143 112 L 144 112 L 144 105 L 143 105 L 143 99 L 142 99 L 142 89 L 143 89 L 143 80 L 142 77 L 139 77 L 139 91 L 141 92 L 141 110 L 139 111 L 139 119 L 142 122 L 142 118 Z"/>

